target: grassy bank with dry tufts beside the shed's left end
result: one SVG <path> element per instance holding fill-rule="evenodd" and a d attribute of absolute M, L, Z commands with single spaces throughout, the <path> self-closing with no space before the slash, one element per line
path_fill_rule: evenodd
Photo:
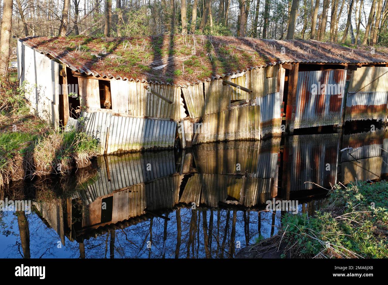
<path fill-rule="evenodd" d="M 24 86 L 0 82 L 0 188 L 26 176 L 66 173 L 84 167 L 98 142 L 76 130 L 64 132 L 29 114 Z"/>

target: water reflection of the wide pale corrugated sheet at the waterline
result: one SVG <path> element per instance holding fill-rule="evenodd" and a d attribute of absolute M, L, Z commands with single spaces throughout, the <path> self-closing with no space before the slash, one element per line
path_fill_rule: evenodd
<path fill-rule="evenodd" d="M 107 155 L 109 178 L 113 190 L 159 179 L 175 173 L 173 150 Z"/>

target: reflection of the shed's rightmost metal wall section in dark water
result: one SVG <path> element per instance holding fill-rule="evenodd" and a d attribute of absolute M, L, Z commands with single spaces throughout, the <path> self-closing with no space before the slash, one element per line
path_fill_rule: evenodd
<path fill-rule="evenodd" d="M 341 173 L 344 183 L 378 180 L 385 173 L 385 130 L 343 136 Z"/>

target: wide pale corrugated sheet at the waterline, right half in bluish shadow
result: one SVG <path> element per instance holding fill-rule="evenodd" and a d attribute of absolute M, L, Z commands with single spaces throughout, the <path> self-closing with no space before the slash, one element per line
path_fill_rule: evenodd
<path fill-rule="evenodd" d="M 173 121 L 112 116 L 107 153 L 173 148 L 176 128 Z"/>

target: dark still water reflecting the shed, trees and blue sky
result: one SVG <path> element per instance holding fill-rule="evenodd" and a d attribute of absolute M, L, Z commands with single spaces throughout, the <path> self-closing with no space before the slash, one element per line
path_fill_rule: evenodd
<path fill-rule="evenodd" d="M 98 157 L 0 192 L 31 201 L 0 212 L 0 257 L 234 257 L 279 230 L 285 211 L 267 200 L 312 215 L 336 183 L 385 179 L 386 150 L 378 129 Z"/>

